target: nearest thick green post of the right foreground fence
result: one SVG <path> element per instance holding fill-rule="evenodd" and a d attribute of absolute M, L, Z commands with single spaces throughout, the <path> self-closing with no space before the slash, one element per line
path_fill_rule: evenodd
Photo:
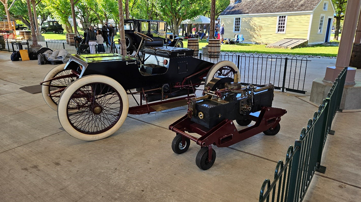
<path fill-rule="evenodd" d="M 293 155 L 292 166 L 291 166 L 291 173 L 290 173 L 290 185 L 288 186 L 288 193 L 287 193 L 287 202 L 295 201 L 296 192 L 297 192 L 297 181 L 298 181 L 298 171 L 299 171 L 299 164 L 301 159 L 301 150 L 302 150 L 302 141 L 296 140 L 295 141 L 295 148 L 299 148 L 296 150 L 295 154 Z"/>

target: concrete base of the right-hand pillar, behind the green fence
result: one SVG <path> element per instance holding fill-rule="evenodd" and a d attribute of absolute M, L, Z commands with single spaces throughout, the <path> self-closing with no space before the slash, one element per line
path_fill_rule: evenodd
<path fill-rule="evenodd" d="M 327 97 L 331 89 L 330 82 L 323 81 L 322 78 L 316 78 L 312 82 L 310 101 L 315 104 L 321 104 Z M 355 81 L 355 85 L 345 85 L 341 99 L 340 109 L 361 109 L 361 81 Z"/>

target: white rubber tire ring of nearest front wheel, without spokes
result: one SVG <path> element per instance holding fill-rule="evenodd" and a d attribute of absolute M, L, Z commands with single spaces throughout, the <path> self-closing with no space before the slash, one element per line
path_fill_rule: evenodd
<path fill-rule="evenodd" d="M 95 82 L 108 84 L 112 86 L 115 90 L 117 90 L 123 102 L 123 109 L 119 120 L 116 122 L 116 124 L 114 124 L 112 128 L 100 134 L 88 135 L 79 132 L 70 124 L 67 115 L 67 106 L 70 97 L 73 95 L 73 93 L 76 90 L 78 90 L 80 87 L 86 84 L 95 83 Z M 71 82 L 71 84 L 65 88 L 64 92 L 60 96 L 60 100 L 58 103 L 58 119 L 60 121 L 61 126 L 69 135 L 79 140 L 94 141 L 94 140 L 100 140 L 106 138 L 112 135 L 113 133 L 115 133 L 123 125 L 128 115 L 128 109 L 129 109 L 129 100 L 127 93 L 116 80 L 103 75 L 89 75 L 78 78 L 77 80 Z"/>

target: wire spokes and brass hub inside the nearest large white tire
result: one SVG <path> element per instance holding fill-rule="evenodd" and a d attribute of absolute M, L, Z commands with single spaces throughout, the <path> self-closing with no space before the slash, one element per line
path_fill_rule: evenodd
<path fill-rule="evenodd" d="M 112 128 L 123 110 L 120 94 L 104 83 L 80 87 L 68 102 L 69 123 L 81 133 L 96 135 Z"/>

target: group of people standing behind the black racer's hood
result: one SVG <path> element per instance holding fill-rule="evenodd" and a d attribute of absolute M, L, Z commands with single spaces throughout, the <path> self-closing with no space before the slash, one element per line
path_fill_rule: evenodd
<path fill-rule="evenodd" d="M 115 28 L 112 23 L 105 22 L 102 29 L 97 30 L 95 32 L 94 27 L 90 26 L 89 31 L 87 33 L 86 44 L 90 46 L 90 53 L 94 54 L 104 53 L 104 42 L 106 46 L 111 46 L 114 41 L 115 36 Z M 96 48 L 97 46 L 97 48 Z"/>

